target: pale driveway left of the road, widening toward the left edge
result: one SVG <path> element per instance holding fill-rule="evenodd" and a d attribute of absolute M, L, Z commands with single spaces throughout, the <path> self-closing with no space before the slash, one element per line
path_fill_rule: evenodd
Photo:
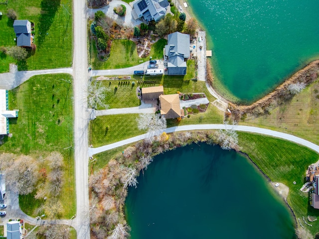
<path fill-rule="evenodd" d="M 30 77 L 44 74 L 73 73 L 72 68 L 58 68 L 38 71 L 16 71 L 0 74 L 0 89 L 12 90 L 27 81 Z"/>

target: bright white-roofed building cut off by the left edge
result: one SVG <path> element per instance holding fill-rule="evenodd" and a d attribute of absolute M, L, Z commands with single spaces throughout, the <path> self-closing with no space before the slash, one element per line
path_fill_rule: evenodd
<path fill-rule="evenodd" d="M 0 135 L 9 133 L 9 119 L 18 117 L 18 110 L 8 110 L 8 92 L 0 89 Z"/>

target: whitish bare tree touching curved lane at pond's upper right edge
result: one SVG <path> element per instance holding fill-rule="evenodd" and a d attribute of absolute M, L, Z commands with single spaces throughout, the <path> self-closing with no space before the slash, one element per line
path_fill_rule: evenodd
<path fill-rule="evenodd" d="M 225 129 L 217 131 L 217 141 L 222 149 L 230 150 L 238 148 L 238 134 L 233 128 L 228 128 L 227 122 L 224 122 Z"/>

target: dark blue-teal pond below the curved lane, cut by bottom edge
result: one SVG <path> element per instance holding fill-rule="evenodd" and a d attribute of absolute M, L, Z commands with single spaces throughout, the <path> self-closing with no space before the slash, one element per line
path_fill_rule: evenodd
<path fill-rule="evenodd" d="M 192 144 L 155 157 L 126 200 L 131 239 L 293 239 L 289 209 L 244 156 Z"/>

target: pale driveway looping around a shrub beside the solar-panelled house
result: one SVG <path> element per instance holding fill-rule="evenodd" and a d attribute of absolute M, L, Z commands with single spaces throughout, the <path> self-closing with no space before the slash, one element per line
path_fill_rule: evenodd
<path fill-rule="evenodd" d="M 114 12 L 114 7 L 117 7 L 119 5 L 125 5 L 126 6 L 126 14 L 125 16 L 119 16 Z M 101 10 L 105 13 L 105 15 L 109 16 L 113 20 L 115 20 L 118 24 L 128 26 L 128 27 L 134 27 L 142 23 L 141 20 L 135 20 L 132 16 L 132 7 L 124 2 L 124 1 L 119 1 L 119 0 L 112 0 L 109 2 L 109 5 L 93 9 L 93 8 L 88 8 L 88 15 L 91 17 L 94 17 L 94 13 L 97 12 L 98 10 Z"/>

